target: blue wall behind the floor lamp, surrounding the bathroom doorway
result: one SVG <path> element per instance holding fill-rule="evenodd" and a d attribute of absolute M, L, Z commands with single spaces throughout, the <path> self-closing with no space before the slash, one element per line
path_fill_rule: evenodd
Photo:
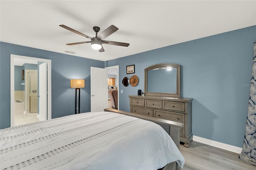
<path fill-rule="evenodd" d="M 10 127 L 10 54 L 52 60 L 52 118 L 74 114 L 75 89 L 70 79 L 85 79 L 80 91 L 80 112 L 90 111 L 90 67 L 104 61 L 0 42 L 0 128 Z M 21 75 L 21 73 L 20 73 Z"/>

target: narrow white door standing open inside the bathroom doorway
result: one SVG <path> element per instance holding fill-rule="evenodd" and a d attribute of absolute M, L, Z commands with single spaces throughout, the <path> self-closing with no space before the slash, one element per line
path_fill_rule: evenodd
<path fill-rule="evenodd" d="M 47 120 L 47 63 L 39 65 L 39 120 Z"/>

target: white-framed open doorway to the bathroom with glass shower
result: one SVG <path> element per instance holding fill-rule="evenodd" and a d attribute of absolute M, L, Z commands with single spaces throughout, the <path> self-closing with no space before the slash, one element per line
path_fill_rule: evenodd
<path fill-rule="evenodd" d="M 26 67 L 25 69 L 24 65 L 29 65 L 29 67 Z M 48 69 L 45 68 L 44 72 L 42 69 L 39 69 L 40 65 L 47 65 Z M 36 122 L 37 120 L 42 121 L 51 119 L 51 60 L 11 55 L 10 68 L 11 127 Z M 46 75 L 37 74 L 40 71 L 44 72 Z M 38 75 L 45 76 L 44 81 L 41 79 L 41 83 Z M 39 85 L 44 83 L 46 88 L 42 90 L 43 88 L 41 87 L 40 90 L 38 88 Z M 40 93 L 38 93 L 39 91 Z M 42 95 L 42 93 L 45 95 Z M 44 97 L 43 100 L 41 99 L 43 98 L 41 95 Z M 15 112 L 18 112 L 18 114 L 15 114 Z M 20 121 L 18 124 L 14 123 L 15 116 Z"/>

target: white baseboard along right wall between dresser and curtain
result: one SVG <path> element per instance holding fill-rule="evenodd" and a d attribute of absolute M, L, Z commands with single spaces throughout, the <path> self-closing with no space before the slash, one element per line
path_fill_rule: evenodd
<path fill-rule="evenodd" d="M 216 142 L 214 140 L 209 140 L 209 139 L 201 138 L 201 137 L 198 137 L 198 136 L 193 136 L 193 140 L 196 141 L 196 142 L 208 144 L 210 146 L 214 146 L 214 147 L 217 147 L 217 148 L 221 148 L 221 149 L 224 149 L 224 150 L 235 152 L 235 153 L 238 153 L 238 154 L 240 154 L 242 152 L 242 148 L 239 148 L 237 146 L 232 146 L 232 145 L 229 145 L 229 144 Z"/>

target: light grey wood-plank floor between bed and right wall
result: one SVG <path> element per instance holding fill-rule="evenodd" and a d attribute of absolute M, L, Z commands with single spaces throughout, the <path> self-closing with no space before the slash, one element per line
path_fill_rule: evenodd
<path fill-rule="evenodd" d="M 180 145 L 180 152 L 185 158 L 182 170 L 256 170 L 237 153 L 196 141 L 190 142 L 189 148 Z"/>

